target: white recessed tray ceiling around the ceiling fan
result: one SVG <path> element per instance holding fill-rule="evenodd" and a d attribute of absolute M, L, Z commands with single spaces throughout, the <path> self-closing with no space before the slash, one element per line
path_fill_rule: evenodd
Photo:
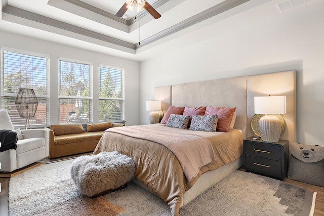
<path fill-rule="evenodd" d="M 145 10 L 124 19 L 115 13 L 125 0 L 2 0 L 0 30 L 141 61 L 163 38 L 253 1 L 147 0 L 159 19 Z"/>

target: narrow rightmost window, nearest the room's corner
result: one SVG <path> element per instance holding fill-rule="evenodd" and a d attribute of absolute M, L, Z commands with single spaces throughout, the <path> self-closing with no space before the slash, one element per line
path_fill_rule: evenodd
<path fill-rule="evenodd" d="M 124 71 L 99 66 L 99 121 L 124 119 Z"/>

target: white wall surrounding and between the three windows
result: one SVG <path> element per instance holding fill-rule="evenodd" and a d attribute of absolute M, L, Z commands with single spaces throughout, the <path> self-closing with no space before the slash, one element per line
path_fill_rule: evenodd
<path fill-rule="evenodd" d="M 99 80 L 98 66 L 104 64 L 125 69 L 125 120 L 139 124 L 139 63 L 45 40 L 0 31 L 0 46 L 50 55 L 50 124 L 58 123 L 58 58 L 64 57 L 93 63 L 93 78 Z M 99 100 L 99 87 L 93 85 L 93 99 Z M 93 122 L 99 121 L 98 103 L 93 104 Z"/>

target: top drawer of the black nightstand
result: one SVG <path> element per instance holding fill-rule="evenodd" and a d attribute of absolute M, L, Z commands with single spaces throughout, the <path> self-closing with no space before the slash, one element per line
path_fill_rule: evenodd
<path fill-rule="evenodd" d="M 281 160 L 280 146 L 249 142 L 248 145 L 245 145 L 245 148 L 246 155 L 262 157 L 271 160 Z"/>

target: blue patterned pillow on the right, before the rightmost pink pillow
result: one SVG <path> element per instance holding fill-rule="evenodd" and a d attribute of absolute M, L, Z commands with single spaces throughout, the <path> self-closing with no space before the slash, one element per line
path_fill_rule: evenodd
<path fill-rule="evenodd" d="M 216 132 L 218 115 L 192 115 L 191 131 Z"/>

